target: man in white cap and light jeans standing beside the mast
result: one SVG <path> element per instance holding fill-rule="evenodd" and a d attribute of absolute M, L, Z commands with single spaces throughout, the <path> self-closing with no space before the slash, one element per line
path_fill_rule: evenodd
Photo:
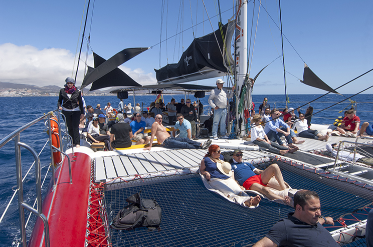
<path fill-rule="evenodd" d="M 227 107 L 228 107 L 228 98 L 233 97 L 235 86 L 232 86 L 232 92 L 228 93 L 224 91 L 223 84 L 224 80 L 217 79 L 216 85 L 217 88 L 214 88 L 210 92 L 209 104 L 214 108 L 214 121 L 213 121 L 213 137 L 214 139 L 218 138 L 218 127 L 220 123 L 220 136 L 221 138 L 227 139 L 227 130 L 226 130 L 226 117 L 227 117 Z"/>

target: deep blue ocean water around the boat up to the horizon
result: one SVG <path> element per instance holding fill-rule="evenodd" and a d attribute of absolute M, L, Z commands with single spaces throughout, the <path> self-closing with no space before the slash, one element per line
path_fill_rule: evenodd
<path fill-rule="evenodd" d="M 307 102 L 314 100 L 321 94 L 292 94 L 288 95 L 288 107 L 296 108 L 300 105 L 306 104 Z M 176 102 L 179 102 L 181 98 L 185 98 L 183 94 L 172 95 Z M 164 102 L 169 102 L 172 98 L 171 95 L 166 94 L 163 96 Z M 335 95 L 328 94 L 317 102 L 311 103 L 314 107 L 314 113 L 321 109 L 324 109 L 336 102 L 339 102 L 349 95 Z M 187 96 L 188 97 L 188 96 Z M 258 113 L 258 107 L 263 101 L 263 98 L 267 97 L 271 107 L 276 106 L 277 108 L 285 107 L 285 95 L 253 95 L 253 101 L 255 103 L 255 109 Z M 193 95 L 190 95 L 192 101 L 197 100 Z M 58 97 L 0 97 L 0 139 L 25 125 L 26 123 L 34 120 L 35 118 L 42 116 L 51 110 L 57 108 Z M 148 106 L 150 102 L 155 100 L 155 95 L 136 95 L 136 102 L 143 104 L 144 107 Z M 373 119 L 373 94 L 360 94 L 354 96 L 351 100 L 355 100 L 357 103 L 357 115 L 360 117 L 361 122 L 371 121 Z M 101 104 L 101 108 L 111 102 L 111 105 L 116 108 L 119 103 L 119 99 L 116 96 L 86 96 L 85 101 L 88 104 L 96 107 L 97 103 Z M 128 99 L 124 99 L 124 103 L 132 103 L 133 96 L 129 95 Z M 204 105 L 208 105 L 208 95 L 201 98 L 201 102 Z M 312 123 L 324 123 L 330 124 L 334 121 L 337 116 L 343 115 L 343 111 L 350 108 L 350 101 L 346 100 L 344 103 L 332 106 L 327 110 L 323 110 L 320 113 L 315 114 L 312 117 Z M 308 104 L 301 107 L 302 112 L 305 111 Z M 205 112 L 209 109 L 205 107 Z M 342 110 L 342 113 L 338 111 Z M 26 129 L 21 133 L 21 141 L 31 145 L 38 153 L 42 150 L 44 144 L 47 141 L 47 133 L 44 131 L 44 121 L 40 121 L 34 126 Z M 49 145 L 49 144 L 48 144 Z M 50 158 L 50 149 L 47 148 L 41 153 L 41 166 L 42 166 L 42 179 L 48 172 Z M 22 169 L 23 175 L 26 174 L 30 168 L 34 158 L 31 153 L 24 148 L 22 150 Z M 15 166 L 15 153 L 14 153 L 14 141 L 10 141 L 8 144 L 0 148 L 0 214 L 3 214 L 6 209 L 13 193 L 13 187 L 17 185 L 16 180 L 16 166 Z M 43 187 L 43 193 L 46 191 L 46 187 L 49 183 L 51 172 L 49 171 L 45 185 Z M 35 200 L 35 166 L 30 170 L 30 174 L 24 181 L 24 199 L 28 204 L 32 205 Z M 26 211 L 27 212 L 27 211 Z M 27 213 L 28 215 L 28 213 Z M 35 222 L 35 217 L 31 219 L 31 225 Z M 19 230 L 19 212 L 18 212 L 18 197 L 16 194 L 15 199 L 10 205 L 7 214 L 5 215 L 2 222 L 0 222 L 0 245 L 11 246 L 16 244 L 16 241 L 20 238 Z M 27 228 L 28 237 L 32 231 L 31 227 Z"/>

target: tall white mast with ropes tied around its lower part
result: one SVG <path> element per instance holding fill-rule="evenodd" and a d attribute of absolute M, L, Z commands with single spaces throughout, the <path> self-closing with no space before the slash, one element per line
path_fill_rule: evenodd
<path fill-rule="evenodd" d="M 236 85 L 236 119 L 238 128 L 245 129 L 244 111 L 238 113 L 240 102 L 240 91 L 245 81 L 247 71 L 247 1 L 236 0 L 236 37 L 235 37 L 235 85 Z M 241 120 L 241 126 L 240 124 Z M 245 135 L 245 131 L 240 131 L 240 136 Z"/>

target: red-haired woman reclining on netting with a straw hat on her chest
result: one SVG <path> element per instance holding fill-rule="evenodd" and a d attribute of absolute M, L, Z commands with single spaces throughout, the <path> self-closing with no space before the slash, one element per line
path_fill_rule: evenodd
<path fill-rule="evenodd" d="M 231 164 L 226 163 L 228 162 L 224 162 L 224 157 L 220 154 L 220 146 L 213 144 L 201 161 L 200 173 L 206 176 L 211 187 L 228 194 L 229 198 L 242 195 L 242 197 L 248 197 L 247 200 L 242 201 L 246 206 L 258 205 L 260 196 L 252 197 L 242 191 L 241 186 L 232 178 Z"/>

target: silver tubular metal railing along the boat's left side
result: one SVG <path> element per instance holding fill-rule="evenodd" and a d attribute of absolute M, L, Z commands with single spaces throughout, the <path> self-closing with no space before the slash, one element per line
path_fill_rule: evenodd
<path fill-rule="evenodd" d="M 51 118 L 53 116 L 53 113 L 57 113 L 57 120 L 54 118 Z M 44 239 L 45 239 L 45 246 L 50 246 L 49 242 L 49 223 L 48 219 L 45 216 L 45 214 L 42 211 L 42 194 L 41 194 L 41 163 L 40 163 L 40 157 L 39 154 L 35 151 L 33 147 L 30 145 L 23 143 L 20 141 L 20 133 L 29 128 L 30 126 L 38 123 L 39 121 L 48 118 L 48 128 L 49 128 L 49 141 L 50 141 L 50 148 L 51 148 L 51 157 L 52 157 L 52 164 L 54 163 L 53 160 L 53 150 L 57 150 L 64 154 L 66 157 L 68 157 L 68 163 L 69 163 L 69 174 L 70 174 L 70 183 L 72 183 L 72 174 L 71 174 L 71 163 L 70 163 L 70 157 L 63 151 L 63 142 L 62 142 L 62 135 L 61 133 L 64 133 L 66 136 L 68 136 L 68 140 L 71 141 L 71 146 L 72 144 L 72 137 L 67 134 L 67 129 L 66 131 L 61 130 L 61 124 L 60 124 L 60 112 L 57 110 L 48 112 L 46 115 L 43 115 L 27 124 L 24 126 L 18 128 L 17 130 L 13 131 L 11 134 L 7 135 L 5 138 L 0 140 L 0 148 L 3 147 L 5 144 L 10 142 L 13 138 L 15 139 L 15 156 L 16 156 L 16 172 L 17 172 L 17 192 L 18 192 L 18 207 L 19 207 L 19 217 L 20 217 L 20 232 L 21 232 L 21 242 L 20 244 L 24 247 L 26 247 L 26 225 L 25 225 L 25 214 L 24 214 L 24 209 L 26 208 L 29 210 L 31 213 L 36 214 L 38 217 L 40 217 L 43 222 L 44 222 Z M 62 115 L 62 114 L 61 114 Z M 62 115 L 64 118 L 64 116 Z M 60 148 L 54 146 L 52 144 L 52 129 L 51 129 L 51 121 L 55 121 L 58 124 L 58 136 L 61 137 L 59 138 L 60 140 Z M 37 202 L 37 208 L 27 204 L 24 201 L 24 191 L 23 191 L 23 177 L 22 177 L 22 161 L 21 161 L 21 147 L 26 148 L 29 150 L 32 155 L 34 156 L 35 159 L 35 169 L 36 169 L 36 202 Z M 43 147 L 44 148 L 44 147 Z M 56 181 L 55 181 L 55 174 L 54 174 L 54 168 L 52 168 L 52 177 L 53 177 L 53 188 L 56 186 Z M 13 199 L 14 197 L 12 197 Z M 9 207 L 6 208 L 6 210 Z M 4 214 L 6 211 L 3 213 L 2 218 L 4 217 Z"/>

